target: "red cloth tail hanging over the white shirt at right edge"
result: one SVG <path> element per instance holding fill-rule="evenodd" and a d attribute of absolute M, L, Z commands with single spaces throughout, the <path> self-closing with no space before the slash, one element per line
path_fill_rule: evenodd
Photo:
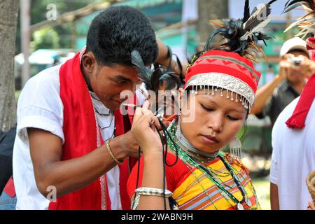
<path fill-rule="evenodd" d="M 293 115 L 286 121 L 286 125 L 289 128 L 302 129 L 305 127 L 305 120 L 311 108 L 311 104 L 314 102 L 314 98 L 315 73 L 307 81 L 307 85 L 305 85 L 302 91 L 299 102 L 297 102 L 295 110 L 293 111 Z"/>

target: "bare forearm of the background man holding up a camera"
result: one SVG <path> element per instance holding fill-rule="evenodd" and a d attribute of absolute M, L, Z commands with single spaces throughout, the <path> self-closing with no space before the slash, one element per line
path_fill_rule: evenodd
<path fill-rule="evenodd" d="M 255 101 L 253 107 L 251 108 L 252 114 L 257 114 L 262 111 L 262 108 L 265 106 L 267 99 L 272 95 L 274 89 L 283 81 L 278 75 L 274 79 L 267 83 L 266 85 L 260 87 L 255 94 Z"/>

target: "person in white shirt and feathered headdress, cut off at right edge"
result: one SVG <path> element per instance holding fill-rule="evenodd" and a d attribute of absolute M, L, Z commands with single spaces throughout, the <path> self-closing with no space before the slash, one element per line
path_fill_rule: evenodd
<path fill-rule="evenodd" d="M 304 6 L 308 13 L 315 10 L 312 0 L 290 0 L 285 10 L 292 9 L 293 4 Z M 297 24 L 314 27 L 314 15 Z M 307 38 L 306 48 L 315 49 L 314 37 Z M 283 110 L 272 130 L 270 202 L 276 210 L 315 210 L 306 183 L 309 173 L 315 170 L 315 69 L 307 73 L 311 76 L 301 96 Z"/>

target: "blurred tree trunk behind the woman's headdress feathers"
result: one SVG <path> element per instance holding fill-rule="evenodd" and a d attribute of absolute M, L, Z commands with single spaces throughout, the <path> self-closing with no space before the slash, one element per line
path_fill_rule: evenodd
<path fill-rule="evenodd" d="M 229 1 L 198 0 L 198 13 L 197 30 L 200 36 L 200 43 L 204 43 L 207 41 L 209 34 L 214 30 L 209 24 L 209 20 L 228 18 Z"/>

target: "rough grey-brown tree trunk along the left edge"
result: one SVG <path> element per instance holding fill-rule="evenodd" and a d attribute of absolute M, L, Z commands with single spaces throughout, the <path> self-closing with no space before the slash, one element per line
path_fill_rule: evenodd
<path fill-rule="evenodd" d="M 19 0 L 0 1 L 0 130 L 16 123 L 14 86 L 14 48 Z"/>

